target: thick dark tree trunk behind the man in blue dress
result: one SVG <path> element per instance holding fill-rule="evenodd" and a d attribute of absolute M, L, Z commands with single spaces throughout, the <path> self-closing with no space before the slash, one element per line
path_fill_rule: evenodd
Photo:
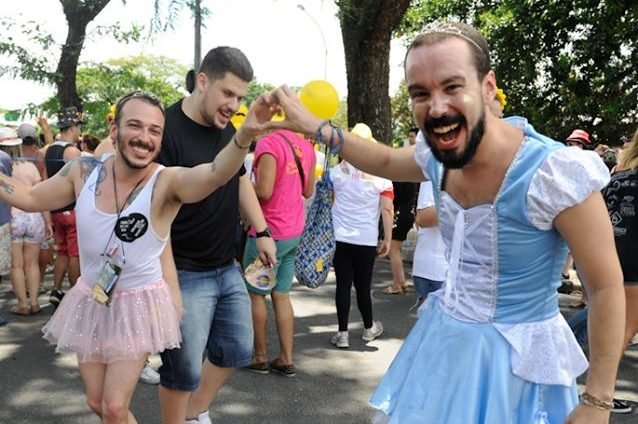
<path fill-rule="evenodd" d="M 392 141 L 390 41 L 410 0 L 337 1 L 348 78 L 348 125 L 367 124 L 380 142 Z"/>

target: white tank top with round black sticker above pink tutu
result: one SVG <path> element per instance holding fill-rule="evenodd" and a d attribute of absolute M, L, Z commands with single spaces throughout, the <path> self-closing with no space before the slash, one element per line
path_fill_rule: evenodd
<path fill-rule="evenodd" d="M 93 286 L 102 269 L 102 254 L 107 243 L 116 243 L 125 254 L 125 263 L 117 283 L 118 290 L 143 287 L 157 282 L 162 278 L 159 257 L 168 236 L 161 238 L 153 230 L 151 196 L 157 176 L 164 167 L 157 167 L 133 203 L 122 210 L 118 231 L 115 231 L 117 214 L 104 213 L 95 206 L 95 183 L 102 166 L 104 162 L 93 169 L 75 206 L 81 275 L 90 286 Z"/>

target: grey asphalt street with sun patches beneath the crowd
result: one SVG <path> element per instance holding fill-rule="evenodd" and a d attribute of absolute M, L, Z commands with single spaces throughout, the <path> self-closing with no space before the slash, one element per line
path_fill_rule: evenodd
<path fill-rule="evenodd" d="M 406 271 L 409 268 L 406 265 Z M 50 275 L 47 281 L 50 287 Z M 408 312 L 415 300 L 413 291 L 391 296 L 381 293 L 390 281 L 388 262 L 377 261 L 373 280 L 374 312 L 375 319 L 383 321 L 385 333 L 368 344 L 360 339 L 362 325 L 353 298 L 351 346 L 344 350 L 329 343 L 336 330 L 334 276 L 316 290 L 295 285 L 292 299 L 297 317 L 297 377 L 236 372 L 212 408 L 213 422 L 369 423 L 372 410 L 367 406 L 367 399 L 416 319 Z M 0 312 L 10 320 L 0 328 L 0 423 L 98 423 L 85 405 L 75 357 L 56 355 L 41 338 L 40 329 L 52 313 L 48 295 L 40 298 L 40 303 L 47 305 L 40 315 L 10 315 L 9 309 L 15 300 L 8 283 L 8 278 L 3 278 L 0 284 Z M 560 296 L 565 313 L 572 313 L 567 305 L 577 297 Z M 272 320 L 271 324 L 274 327 Z M 269 336 L 270 354 L 274 357 L 277 339 L 273 328 Z M 157 357 L 153 357 L 152 362 L 159 365 Z M 424 384 L 427 384 L 427 376 L 424 376 Z M 638 402 L 638 346 L 633 346 L 621 363 L 617 395 Z M 159 423 L 157 387 L 139 384 L 132 409 L 141 424 Z M 638 411 L 617 415 L 612 422 L 637 423 Z"/>

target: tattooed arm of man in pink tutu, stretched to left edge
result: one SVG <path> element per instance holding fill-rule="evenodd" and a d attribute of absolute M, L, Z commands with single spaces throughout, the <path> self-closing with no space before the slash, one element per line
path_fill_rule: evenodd
<path fill-rule="evenodd" d="M 0 174 L 0 199 L 25 212 L 58 209 L 75 201 L 74 177 L 78 161 L 68 162 L 53 177 L 29 186 Z"/>

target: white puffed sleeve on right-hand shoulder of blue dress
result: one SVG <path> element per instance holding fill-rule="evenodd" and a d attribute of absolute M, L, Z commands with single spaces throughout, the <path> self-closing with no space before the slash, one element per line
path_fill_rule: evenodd
<path fill-rule="evenodd" d="M 527 192 L 531 223 L 550 230 L 554 218 L 609 183 L 609 171 L 598 154 L 578 147 L 550 152 L 538 168 Z"/>

